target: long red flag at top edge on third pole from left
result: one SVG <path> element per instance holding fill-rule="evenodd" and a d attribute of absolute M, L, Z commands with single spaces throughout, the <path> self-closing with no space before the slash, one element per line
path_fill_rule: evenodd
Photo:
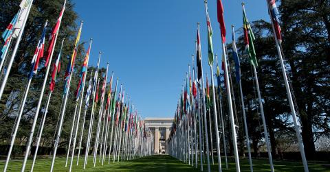
<path fill-rule="evenodd" d="M 64 13 L 64 10 L 65 10 L 65 2 L 63 4 L 63 8 L 60 12 L 60 16 L 58 17 L 57 22 L 54 25 L 54 28 L 52 29 L 52 34 L 50 35 L 50 40 L 48 42 L 48 48 L 47 48 L 47 51 L 46 51 L 45 66 L 47 66 L 47 64 L 50 60 L 50 56 L 52 56 L 52 51 L 54 49 L 56 35 L 58 34 L 58 30 L 60 29 L 63 13 Z"/>

